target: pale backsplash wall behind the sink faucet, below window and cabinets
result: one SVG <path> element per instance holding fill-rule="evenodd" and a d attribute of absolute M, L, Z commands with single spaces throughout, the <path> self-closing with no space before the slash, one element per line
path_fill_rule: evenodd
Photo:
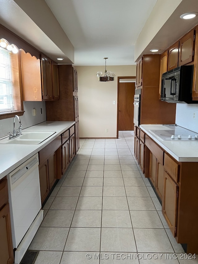
<path fill-rule="evenodd" d="M 38 123 L 46 121 L 45 102 L 23 102 L 24 103 L 24 115 L 19 116 L 23 128 L 28 128 Z M 37 115 L 32 116 L 32 109 L 37 110 Z M 40 108 L 42 108 L 42 114 L 40 114 Z M 15 119 L 15 128 L 18 128 L 19 121 Z M 13 131 L 13 117 L 0 120 L 0 136 L 6 135 L 8 132 Z"/>

